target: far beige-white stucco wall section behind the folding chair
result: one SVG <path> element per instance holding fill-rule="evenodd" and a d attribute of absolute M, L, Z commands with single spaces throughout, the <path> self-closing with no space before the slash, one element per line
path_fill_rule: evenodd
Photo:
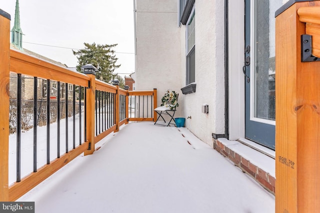
<path fill-rule="evenodd" d="M 157 102 L 167 89 L 180 92 L 180 28 L 177 2 L 137 0 L 136 2 L 136 89 L 157 89 Z M 177 116 L 181 115 L 177 108 Z"/>

